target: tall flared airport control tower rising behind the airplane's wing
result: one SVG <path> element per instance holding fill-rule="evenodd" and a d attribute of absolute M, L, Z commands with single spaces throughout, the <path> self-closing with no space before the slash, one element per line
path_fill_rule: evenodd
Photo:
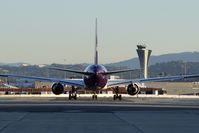
<path fill-rule="evenodd" d="M 146 49 L 144 45 L 137 45 L 137 53 L 140 60 L 141 77 L 148 77 L 148 63 L 152 50 Z"/>

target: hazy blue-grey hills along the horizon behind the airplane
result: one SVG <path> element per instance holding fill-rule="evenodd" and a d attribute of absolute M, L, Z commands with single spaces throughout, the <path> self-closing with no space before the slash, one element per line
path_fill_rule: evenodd
<path fill-rule="evenodd" d="M 186 64 L 186 67 L 185 67 Z M 49 70 L 48 67 L 60 67 L 76 70 L 84 70 L 88 64 L 51 64 L 51 65 L 28 65 L 19 64 L 2 64 L 0 65 L 0 73 L 12 73 L 20 75 L 42 76 L 51 78 L 82 78 L 82 75 L 77 75 L 70 72 L 61 72 Z M 138 58 L 133 58 L 127 61 L 118 63 L 105 64 L 108 70 L 119 70 L 126 68 L 139 68 Z M 186 69 L 186 70 L 185 70 Z M 186 71 L 186 72 L 185 72 Z M 177 54 L 166 54 L 160 56 L 152 56 L 149 65 L 149 76 L 155 77 L 164 75 L 179 75 L 179 74 L 199 74 L 199 52 L 184 52 Z M 127 72 L 117 74 L 121 78 L 139 78 L 140 71 Z M 15 81 L 15 79 L 13 79 Z"/>

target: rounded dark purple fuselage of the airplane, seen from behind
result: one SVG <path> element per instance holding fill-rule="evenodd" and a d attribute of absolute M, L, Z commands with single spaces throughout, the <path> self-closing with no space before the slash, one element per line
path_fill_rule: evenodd
<path fill-rule="evenodd" d="M 106 86 L 108 77 L 104 73 L 107 70 L 103 65 L 89 65 L 84 71 L 93 73 L 85 75 L 83 79 L 88 89 L 97 90 Z"/>

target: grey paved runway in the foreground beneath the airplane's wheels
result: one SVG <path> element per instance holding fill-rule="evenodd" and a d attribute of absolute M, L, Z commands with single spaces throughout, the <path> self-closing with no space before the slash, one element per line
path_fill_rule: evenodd
<path fill-rule="evenodd" d="M 198 132 L 197 99 L 2 98 L 0 133 Z"/>

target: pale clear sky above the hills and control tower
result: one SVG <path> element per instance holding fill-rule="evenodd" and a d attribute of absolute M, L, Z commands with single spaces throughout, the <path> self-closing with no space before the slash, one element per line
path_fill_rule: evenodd
<path fill-rule="evenodd" d="M 199 51 L 198 0 L 1 0 L 0 62 L 93 63 Z"/>

